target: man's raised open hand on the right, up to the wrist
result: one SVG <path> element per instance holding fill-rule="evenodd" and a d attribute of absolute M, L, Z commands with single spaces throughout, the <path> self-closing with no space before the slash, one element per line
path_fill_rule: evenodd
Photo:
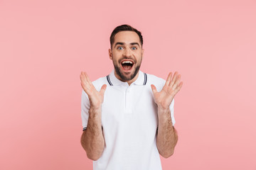
<path fill-rule="evenodd" d="M 151 89 L 154 94 L 154 100 L 157 104 L 157 106 L 161 109 L 169 109 L 169 106 L 171 105 L 171 101 L 174 99 L 174 96 L 178 93 L 178 91 L 181 89 L 181 86 L 183 82 L 181 81 L 181 74 L 178 74 L 178 72 L 174 73 L 174 77 L 172 77 L 172 73 L 170 72 L 167 79 L 166 84 L 164 84 L 164 87 L 161 91 L 156 90 L 156 86 L 151 84 Z"/>

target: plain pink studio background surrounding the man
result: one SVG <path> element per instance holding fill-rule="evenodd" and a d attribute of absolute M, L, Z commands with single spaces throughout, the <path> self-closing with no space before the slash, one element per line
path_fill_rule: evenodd
<path fill-rule="evenodd" d="M 256 1 L 0 1 L 0 169 L 92 169 L 80 72 L 112 70 L 109 37 L 142 30 L 142 71 L 182 75 L 163 169 L 256 169 Z M 139 151 L 138 151 L 139 152 Z"/>

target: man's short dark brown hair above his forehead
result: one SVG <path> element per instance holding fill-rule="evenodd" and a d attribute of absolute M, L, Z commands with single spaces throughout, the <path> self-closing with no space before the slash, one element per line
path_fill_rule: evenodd
<path fill-rule="evenodd" d="M 135 33 L 137 33 L 137 35 L 139 35 L 139 41 L 141 42 L 141 44 L 143 45 L 143 38 L 142 38 L 142 33 L 137 30 L 136 28 L 133 28 L 132 26 L 129 26 L 127 24 L 124 24 L 122 26 L 117 26 L 116 28 L 114 28 L 114 30 L 112 31 L 111 35 L 110 35 L 110 45 L 112 48 L 112 45 L 114 43 L 114 35 L 116 35 L 117 33 L 119 33 L 120 31 L 124 31 L 124 30 L 130 30 L 130 31 L 134 31 Z"/>

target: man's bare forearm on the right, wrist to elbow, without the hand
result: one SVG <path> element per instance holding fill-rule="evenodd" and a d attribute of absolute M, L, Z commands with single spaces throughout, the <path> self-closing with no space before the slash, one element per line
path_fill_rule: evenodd
<path fill-rule="evenodd" d="M 156 146 L 162 157 L 171 157 L 178 141 L 177 131 L 171 121 L 170 109 L 158 109 L 159 128 L 156 137 Z"/>

